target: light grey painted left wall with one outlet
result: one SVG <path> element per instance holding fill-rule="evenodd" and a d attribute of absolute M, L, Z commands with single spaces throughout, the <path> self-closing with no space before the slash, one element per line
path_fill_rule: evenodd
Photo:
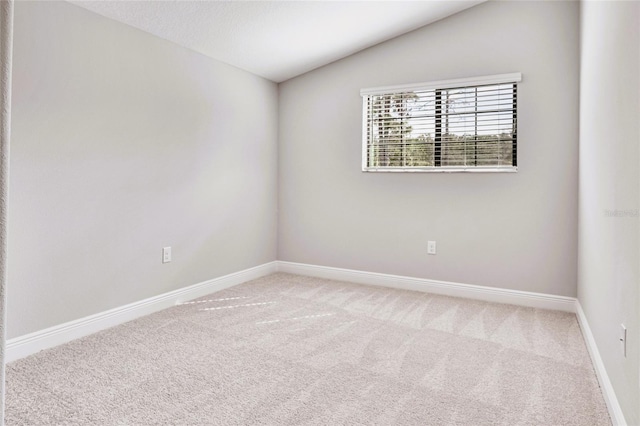
<path fill-rule="evenodd" d="M 275 83 L 57 1 L 13 75 L 8 338 L 276 259 Z"/>

